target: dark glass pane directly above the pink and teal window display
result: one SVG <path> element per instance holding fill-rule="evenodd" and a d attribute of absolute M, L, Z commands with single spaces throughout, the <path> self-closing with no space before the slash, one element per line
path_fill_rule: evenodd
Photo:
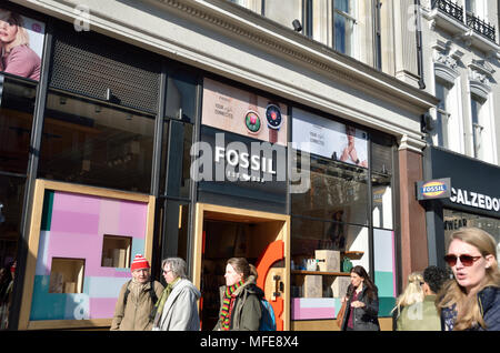
<path fill-rule="evenodd" d="M 50 91 L 39 175 L 150 192 L 154 117 Z"/>

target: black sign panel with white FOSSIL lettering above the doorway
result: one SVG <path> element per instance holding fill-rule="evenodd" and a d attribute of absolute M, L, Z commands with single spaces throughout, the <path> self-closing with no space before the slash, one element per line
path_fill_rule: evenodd
<path fill-rule="evenodd" d="M 287 148 L 202 125 L 197 149 L 199 202 L 287 213 Z"/>

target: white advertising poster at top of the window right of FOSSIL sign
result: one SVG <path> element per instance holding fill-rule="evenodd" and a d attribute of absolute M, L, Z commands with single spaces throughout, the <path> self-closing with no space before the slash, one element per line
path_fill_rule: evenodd
<path fill-rule="evenodd" d="M 292 119 L 292 141 L 302 151 L 368 168 L 366 131 L 297 108 Z"/>

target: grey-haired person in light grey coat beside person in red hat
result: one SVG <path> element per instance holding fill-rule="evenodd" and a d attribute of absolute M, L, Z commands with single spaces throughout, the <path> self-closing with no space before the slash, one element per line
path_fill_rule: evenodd
<path fill-rule="evenodd" d="M 186 276 L 186 262 L 180 258 L 162 261 L 167 286 L 157 303 L 152 331 L 200 331 L 197 302 L 200 291 Z"/>

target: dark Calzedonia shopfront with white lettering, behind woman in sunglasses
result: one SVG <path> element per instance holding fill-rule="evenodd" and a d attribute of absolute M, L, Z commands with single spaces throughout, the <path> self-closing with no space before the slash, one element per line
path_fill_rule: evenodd
<path fill-rule="evenodd" d="M 429 262 L 444 266 L 450 234 L 477 226 L 500 242 L 500 168 L 440 148 L 426 151 L 427 180 L 450 178 L 450 196 L 426 200 Z M 497 249 L 500 254 L 500 248 Z"/>

